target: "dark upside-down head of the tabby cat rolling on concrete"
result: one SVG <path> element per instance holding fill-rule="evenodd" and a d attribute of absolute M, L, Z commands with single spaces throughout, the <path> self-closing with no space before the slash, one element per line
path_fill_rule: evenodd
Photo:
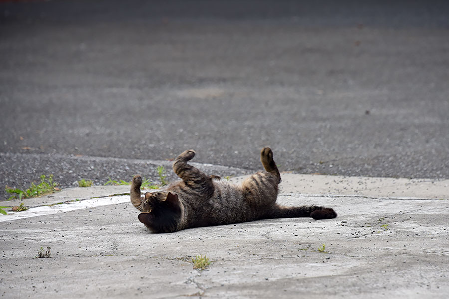
<path fill-rule="evenodd" d="M 178 195 L 172 192 L 145 193 L 142 202 L 144 213 L 139 221 L 154 233 L 170 233 L 178 229 L 183 213 L 183 205 Z"/>

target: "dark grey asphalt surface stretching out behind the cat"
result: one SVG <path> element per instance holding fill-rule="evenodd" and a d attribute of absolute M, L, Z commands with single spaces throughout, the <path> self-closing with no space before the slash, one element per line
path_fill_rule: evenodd
<path fill-rule="evenodd" d="M 245 173 L 266 145 L 282 171 L 449 178 L 449 1 L 1 2 L 0 107 L 1 188 L 185 149 Z"/>

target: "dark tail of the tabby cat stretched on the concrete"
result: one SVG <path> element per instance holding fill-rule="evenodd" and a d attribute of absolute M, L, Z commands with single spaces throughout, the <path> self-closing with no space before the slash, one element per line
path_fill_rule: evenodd
<path fill-rule="evenodd" d="M 283 207 L 275 205 L 269 210 L 266 218 L 296 218 L 296 217 L 312 217 L 315 220 L 332 219 L 337 217 L 337 213 L 331 208 L 319 206 L 301 206 L 301 207 Z"/>

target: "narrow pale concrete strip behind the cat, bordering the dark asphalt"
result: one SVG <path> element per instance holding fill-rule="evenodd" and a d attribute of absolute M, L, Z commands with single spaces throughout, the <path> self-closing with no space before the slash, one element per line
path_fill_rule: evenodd
<path fill-rule="evenodd" d="M 449 179 L 407 179 L 385 177 L 347 177 L 334 175 L 282 173 L 280 194 L 302 194 L 307 196 L 355 196 L 396 199 L 449 199 Z M 248 176 L 237 176 L 230 181 L 241 183 Z M 151 190 L 149 190 L 151 191 Z M 38 198 L 1 201 L 0 206 L 27 207 L 54 205 L 61 202 L 110 197 L 129 193 L 129 186 L 93 186 L 67 188 Z M 10 209 L 6 209 L 10 211 Z"/>

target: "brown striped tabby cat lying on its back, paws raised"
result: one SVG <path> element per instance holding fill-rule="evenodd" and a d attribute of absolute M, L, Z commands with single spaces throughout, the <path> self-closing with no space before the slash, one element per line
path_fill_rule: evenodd
<path fill-rule="evenodd" d="M 337 217 L 331 208 L 319 206 L 284 207 L 276 203 L 279 170 L 273 152 L 265 147 L 260 171 L 234 185 L 218 176 L 207 176 L 187 164 L 195 156 L 186 150 L 173 162 L 173 171 L 182 180 L 158 192 L 141 196 L 142 177 L 135 175 L 131 183 L 131 203 L 142 213 L 139 221 L 154 233 L 170 233 L 186 228 L 223 225 L 269 218 Z"/>

